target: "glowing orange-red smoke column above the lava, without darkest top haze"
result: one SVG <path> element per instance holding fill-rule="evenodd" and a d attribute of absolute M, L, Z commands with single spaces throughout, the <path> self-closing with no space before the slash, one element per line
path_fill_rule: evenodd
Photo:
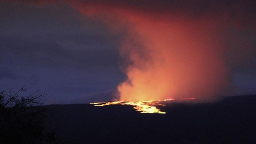
<path fill-rule="evenodd" d="M 117 87 L 118 100 L 211 98 L 227 86 L 225 48 L 209 17 L 202 21 L 100 4 L 73 6 L 101 19 L 113 33 L 126 30 L 119 51 L 127 79 Z"/>

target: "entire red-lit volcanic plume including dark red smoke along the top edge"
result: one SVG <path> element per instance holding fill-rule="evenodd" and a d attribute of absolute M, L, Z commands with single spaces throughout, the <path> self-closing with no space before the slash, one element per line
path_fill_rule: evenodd
<path fill-rule="evenodd" d="M 67 3 L 108 24 L 113 32 L 125 30 L 120 55 L 127 79 L 117 88 L 123 101 L 222 94 L 231 75 L 225 57 L 230 51 L 228 31 L 255 31 L 256 24 L 253 1 Z M 243 47 L 238 51 L 250 50 Z"/>

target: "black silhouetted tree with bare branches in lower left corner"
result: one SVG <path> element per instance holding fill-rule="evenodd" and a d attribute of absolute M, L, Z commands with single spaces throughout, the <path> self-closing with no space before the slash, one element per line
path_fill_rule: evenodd
<path fill-rule="evenodd" d="M 45 132 L 45 112 L 40 106 L 39 90 L 29 96 L 20 97 L 24 86 L 16 93 L 0 92 L 0 143 L 51 143 L 54 132 Z"/>

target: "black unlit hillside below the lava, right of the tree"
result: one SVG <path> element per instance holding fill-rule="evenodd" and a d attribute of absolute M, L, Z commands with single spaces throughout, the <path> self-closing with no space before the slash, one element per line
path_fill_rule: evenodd
<path fill-rule="evenodd" d="M 132 106 L 48 105 L 58 143 L 256 143 L 256 96 L 208 104 L 168 102 L 166 114 Z"/>

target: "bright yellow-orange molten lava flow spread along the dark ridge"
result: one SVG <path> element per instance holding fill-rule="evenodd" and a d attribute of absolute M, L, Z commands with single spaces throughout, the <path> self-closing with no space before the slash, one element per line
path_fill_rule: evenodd
<path fill-rule="evenodd" d="M 181 100 L 193 100 L 195 98 L 189 98 L 189 99 L 181 99 Z M 172 101 L 174 99 L 166 99 L 163 101 Z M 165 114 L 166 112 L 162 112 L 160 109 L 158 109 L 156 106 L 161 105 L 165 106 L 164 104 L 160 103 L 161 101 L 111 101 L 111 102 L 95 102 L 90 103 L 94 104 L 94 106 L 106 106 L 106 105 L 132 105 L 136 111 L 139 111 L 140 113 L 160 113 Z"/>

